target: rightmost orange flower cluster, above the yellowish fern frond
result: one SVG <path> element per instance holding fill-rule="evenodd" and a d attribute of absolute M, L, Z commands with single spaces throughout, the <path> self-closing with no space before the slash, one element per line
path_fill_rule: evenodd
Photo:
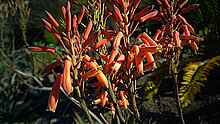
<path fill-rule="evenodd" d="M 195 36 L 194 28 L 182 16 L 187 11 L 196 9 L 199 4 L 193 4 L 185 7 L 188 0 L 157 0 L 161 11 L 157 17 L 162 22 L 161 29 L 158 29 L 153 39 L 163 46 L 167 55 L 174 47 L 175 50 L 181 49 L 183 46 L 190 45 L 194 51 L 198 51 L 196 42 L 201 39 Z M 174 5 L 171 7 L 171 5 Z M 185 7 L 185 8 L 184 8 Z M 175 53 L 175 52 L 174 52 Z"/>

